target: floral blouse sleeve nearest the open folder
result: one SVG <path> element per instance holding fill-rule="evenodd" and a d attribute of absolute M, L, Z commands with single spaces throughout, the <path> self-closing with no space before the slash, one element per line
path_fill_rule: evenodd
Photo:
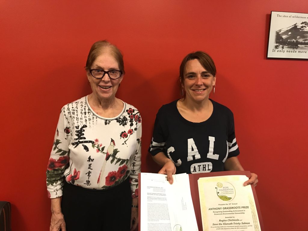
<path fill-rule="evenodd" d="M 136 130 L 136 151 L 132 155 L 130 159 L 130 183 L 131 183 L 131 191 L 132 198 L 138 198 L 138 173 L 141 172 L 141 135 L 142 135 L 142 124 L 141 124 L 141 116 L 139 114 L 138 117 L 138 126 Z"/>

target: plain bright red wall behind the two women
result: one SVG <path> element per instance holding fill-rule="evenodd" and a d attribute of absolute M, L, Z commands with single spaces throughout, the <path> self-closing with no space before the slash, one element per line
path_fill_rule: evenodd
<path fill-rule="evenodd" d="M 266 47 L 270 11 L 308 13 L 308 1 L 90 2 L 0 1 L 0 200 L 12 203 L 12 230 L 48 230 L 59 111 L 90 93 L 83 67 L 101 39 L 124 53 L 117 96 L 142 113 L 143 172 L 158 170 L 147 149 L 158 108 L 179 97 L 181 60 L 207 51 L 212 98 L 233 111 L 239 158 L 259 176 L 266 230 L 306 230 L 308 61 L 266 59 Z"/>

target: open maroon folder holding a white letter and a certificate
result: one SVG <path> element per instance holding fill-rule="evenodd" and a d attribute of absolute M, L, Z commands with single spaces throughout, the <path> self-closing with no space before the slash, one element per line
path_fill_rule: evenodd
<path fill-rule="evenodd" d="M 248 171 L 173 175 L 139 173 L 140 231 L 261 231 L 263 222 Z"/>

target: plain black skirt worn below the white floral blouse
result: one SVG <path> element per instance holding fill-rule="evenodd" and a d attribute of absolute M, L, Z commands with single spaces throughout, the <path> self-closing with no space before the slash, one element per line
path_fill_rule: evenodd
<path fill-rule="evenodd" d="M 129 177 L 106 189 L 88 189 L 65 182 L 61 201 L 67 231 L 129 231 L 132 193 Z"/>

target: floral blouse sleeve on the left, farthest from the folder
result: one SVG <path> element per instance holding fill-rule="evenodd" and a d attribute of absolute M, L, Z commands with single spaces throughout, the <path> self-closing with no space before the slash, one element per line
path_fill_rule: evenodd
<path fill-rule="evenodd" d="M 50 198 L 62 196 L 63 172 L 69 166 L 70 139 L 71 127 L 61 112 L 46 171 L 47 193 Z"/>

